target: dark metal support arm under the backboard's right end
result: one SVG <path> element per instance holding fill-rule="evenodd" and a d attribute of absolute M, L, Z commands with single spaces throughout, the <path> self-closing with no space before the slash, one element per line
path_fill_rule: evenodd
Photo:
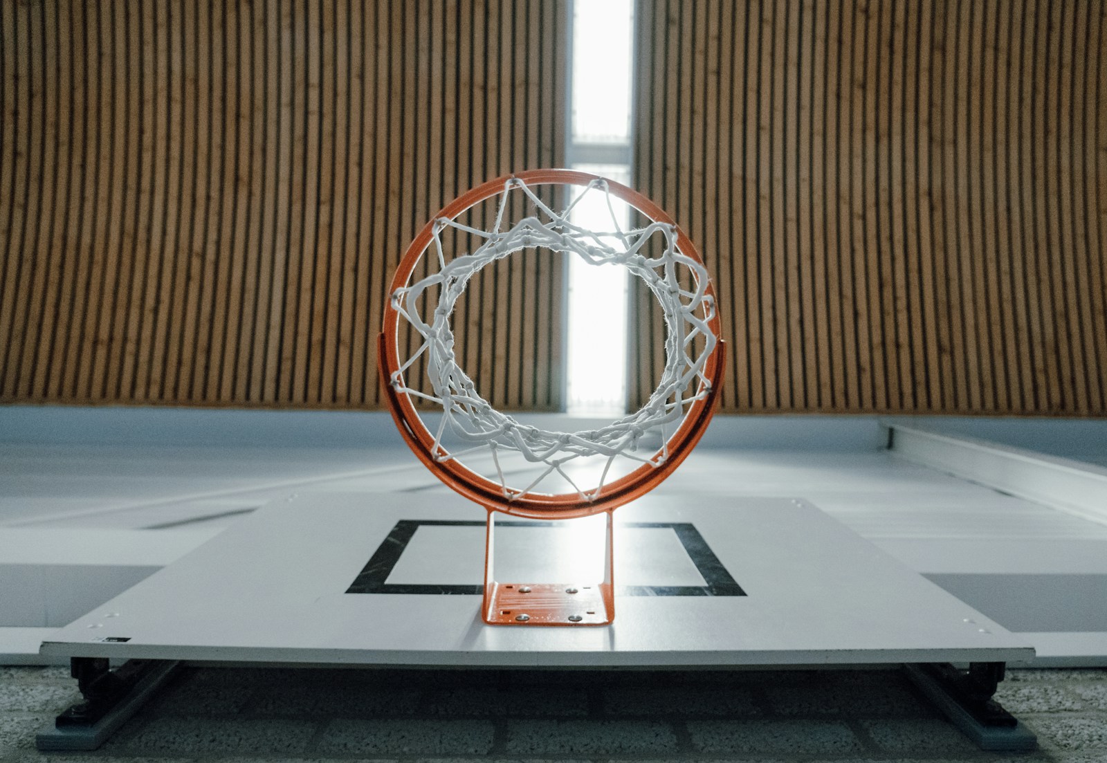
<path fill-rule="evenodd" d="M 1006 673 L 1004 662 L 971 662 L 959 669 L 948 662 L 904 666 L 927 697 L 981 750 L 1026 751 L 1037 736 L 993 697 Z"/>

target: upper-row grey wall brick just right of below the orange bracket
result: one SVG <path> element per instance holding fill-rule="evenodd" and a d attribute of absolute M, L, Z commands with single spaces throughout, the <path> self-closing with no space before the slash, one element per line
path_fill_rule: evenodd
<path fill-rule="evenodd" d="M 602 692 L 610 715 L 761 715 L 753 692 L 733 687 L 620 688 Z"/>

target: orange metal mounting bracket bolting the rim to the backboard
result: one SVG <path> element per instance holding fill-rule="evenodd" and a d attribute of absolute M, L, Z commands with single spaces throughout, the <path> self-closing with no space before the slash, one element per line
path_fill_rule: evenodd
<path fill-rule="evenodd" d="M 615 619 L 612 511 L 604 512 L 603 579 L 499 582 L 495 577 L 496 515 L 488 509 L 482 616 L 492 626 L 607 626 Z"/>

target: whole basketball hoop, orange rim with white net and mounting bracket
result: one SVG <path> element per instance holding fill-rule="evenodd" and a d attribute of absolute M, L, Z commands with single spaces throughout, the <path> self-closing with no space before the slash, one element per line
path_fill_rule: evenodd
<path fill-rule="evenodd" d="M 560 196 L 563 205 L 544 195 Z M 586 200 L 594 203 L 597 195 L 611 215 L 606 230 L 573 221 L 573 210 Z M 490 199 L 496 205 L 489 227 L 464 219 Z M 645 224 L 623 230 L 615 214 L 619 203 L 638 210 Z M 524 214 L 511 221 L 509 210 L 520 208 Z M 477 246 L 468 254 L 451 251 L 445 235 L 474 238 Z M 664 371 L 637 412 L 597 430 L 546 431 L 497 411 L 458 365 L 449 319 L 469 279 L 486 265 L 532 248 L 625 267 L 658 299 L 666 324 Z M 416 271 L 421 277 L 415 278 Z M 401 347 L 401 329 L 414 338 L 413 349 Z M 381 381 L 396 426 L 415 455 L 445 484 L 488 511 L 486 622 L 611 622 L 611 513 L 656 487 L 703 435 L 722 384 L 721 334 L 714 291 L 692 241 L 651 200 L 612 181 L 568 169 L 518 173 L 469 190 L 420 231 L 389 290 L 379 338 Z M 430 391 L 411 378 L 416 367 L 425 368 Z M 417 401 L 441 406 L 441 420 L 428 425 Z M 604 580 L 596 586 L 496 582 L 497 513 L 541 519 L 606 513 Z M 581 596 L 586 590 L 593 597 L 588 601 Z"/>

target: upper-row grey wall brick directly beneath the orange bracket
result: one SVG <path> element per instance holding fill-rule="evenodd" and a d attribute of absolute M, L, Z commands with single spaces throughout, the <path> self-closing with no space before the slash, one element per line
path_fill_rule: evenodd
<path fill-rule="evenodd" d="M 489 715 L 495 718 L 557 718 L 588 714 L 588 693 L 575 687 L 536 689 L 447 689 L 427 692 L 421 707 L 432 715 Z"/>

